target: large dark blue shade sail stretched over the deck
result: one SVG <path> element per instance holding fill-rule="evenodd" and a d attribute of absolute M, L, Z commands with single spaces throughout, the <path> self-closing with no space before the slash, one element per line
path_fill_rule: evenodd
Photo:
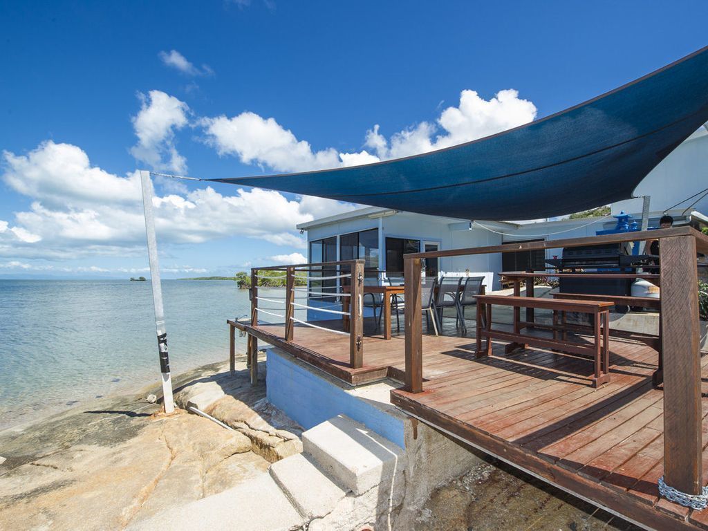
<path fill-rule="evenodd" d="M 533 219 L 628 199 L 708 120 L 708 47 L 547 118 L 403 159 L 213 179 L 462 219 Z"/>

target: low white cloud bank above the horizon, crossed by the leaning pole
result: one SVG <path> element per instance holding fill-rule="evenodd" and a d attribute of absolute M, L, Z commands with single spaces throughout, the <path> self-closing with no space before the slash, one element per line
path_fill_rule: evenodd
<path fill-rule="evenodd" d="M 113 175 L 91 166 L 79 147 L 54 142 L 44 142 L 26 155 L 4 152 L 3 158 L 4 181 L 35 200 L 15 213 L 12 226 L 0 220 L 0 256 L 61 259 L 144 254 L 137 172 Z M 243 235 L 304 249 L 306 241 L 297 234 L 296 224 L 351 208 L 320 198 L 287 199 L 259 188 L 223 195 L 207 187 L 154 198 L 161 245 Z"/>

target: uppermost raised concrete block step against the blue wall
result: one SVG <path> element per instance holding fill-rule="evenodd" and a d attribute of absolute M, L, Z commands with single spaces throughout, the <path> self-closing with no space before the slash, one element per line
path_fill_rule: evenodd
<path fill-rule="evenodd" d="M 302 450 L 338 486 L 357 496 L 392 481 L 404 456 L 401 447 L 343 415 L 303 432 Z"/>

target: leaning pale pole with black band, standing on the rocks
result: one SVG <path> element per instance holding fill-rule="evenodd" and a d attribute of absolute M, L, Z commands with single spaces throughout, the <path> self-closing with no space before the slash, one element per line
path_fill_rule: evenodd
<path fill-rule="evenodd" d="M 152 183 L 150 172 L 140 171 L 142 182 L 142 206 L 145 210 L 145 232 L 147 233 L 147 253 L 150 259 L 150 281 L 152 283 L 152 302 L 155 307 L 155 329 L 157 332 L 157 351 L 160 357 L 160 372 L 162 373 L 162 396 L 164 396 L 165 413 L 175 409 L 172 398 L 172 380 L 170 378 L 170 360 L 167 353 L 167 331 L 165 329 L 165 312 L 162 307 L 162 287 L 160 284 L 160 265 L 157 261 L 157 238 L 155 236 L 155 219 L 152 215 Z"/>

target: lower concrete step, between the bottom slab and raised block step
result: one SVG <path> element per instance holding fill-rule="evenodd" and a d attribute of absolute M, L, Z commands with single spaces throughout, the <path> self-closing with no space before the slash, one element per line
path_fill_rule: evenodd
<path fill-rule="evenodd" d="M 346 492 L 308 457 L 291 455 L 271 464 L 269 472 L 300 515 L 312 520 L 330 513 Z"/>

